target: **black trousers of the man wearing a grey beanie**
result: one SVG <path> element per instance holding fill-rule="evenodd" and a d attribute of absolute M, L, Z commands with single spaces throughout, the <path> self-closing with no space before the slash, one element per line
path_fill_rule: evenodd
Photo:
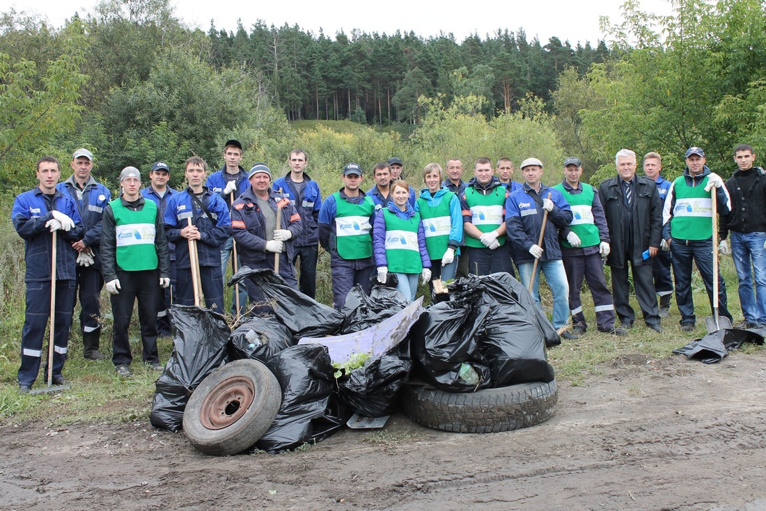
<path fill-rule="evenodd" d="M 133 317 L 133 303 L 139 303 L 139 326 L 144 362 L 159 362 L 157 353 L 157 286 L 159 270 L 117 270 L 119 294 L 112 295 L 112 362 L 130 365 L 128 328 Z"/>

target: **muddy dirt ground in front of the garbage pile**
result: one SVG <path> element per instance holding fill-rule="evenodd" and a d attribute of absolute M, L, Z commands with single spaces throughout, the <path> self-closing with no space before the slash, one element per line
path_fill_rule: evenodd
<path fill-rule="evenodd" d="M 624 357 L 535 427 L 402 414 L 289 454 L 208 457 L 149 421 L 0 428 L 2 509 L 766 509 L 766 352 Z"/>

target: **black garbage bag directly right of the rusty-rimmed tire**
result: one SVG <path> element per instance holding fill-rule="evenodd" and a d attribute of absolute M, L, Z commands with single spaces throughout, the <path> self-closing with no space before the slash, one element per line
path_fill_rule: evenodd
<path fill-rule="evenodd" d="M 257 448 L 278 453 L 324 440 L 352 413 L 337 395 L 326 346 L 303 344 L 279 352 L 267 364 L 282 388 L 282 405 Z"/>

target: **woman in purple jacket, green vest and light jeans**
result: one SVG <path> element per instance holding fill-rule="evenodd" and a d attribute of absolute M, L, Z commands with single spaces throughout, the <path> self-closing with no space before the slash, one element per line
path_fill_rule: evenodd
<path fill-rule="evenodd" d="M 398 279 L 397 289 L 415 300 L 417 277 L 430 281 L 430 257 L 421 215 L 409 204 L 410 185 L 403 180 L 391 185 L 393 200 L 375 213 L 372 246 L 378 265 L 378 282 L 388 280 L 388 272 Z"/>

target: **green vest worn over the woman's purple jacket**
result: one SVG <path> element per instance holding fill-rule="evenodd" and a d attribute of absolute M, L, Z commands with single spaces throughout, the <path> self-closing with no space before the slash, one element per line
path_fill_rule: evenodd
<path fill-rule="evenodd" d="M 423 260 L 417 245 L 417 226 L 421 223 L 421 215 L 416 211 L 411 218 L 399 218 L 399 215 L 385 208 L 383 219 L 388 271 L 395 274 L 421 273 Z"/>

